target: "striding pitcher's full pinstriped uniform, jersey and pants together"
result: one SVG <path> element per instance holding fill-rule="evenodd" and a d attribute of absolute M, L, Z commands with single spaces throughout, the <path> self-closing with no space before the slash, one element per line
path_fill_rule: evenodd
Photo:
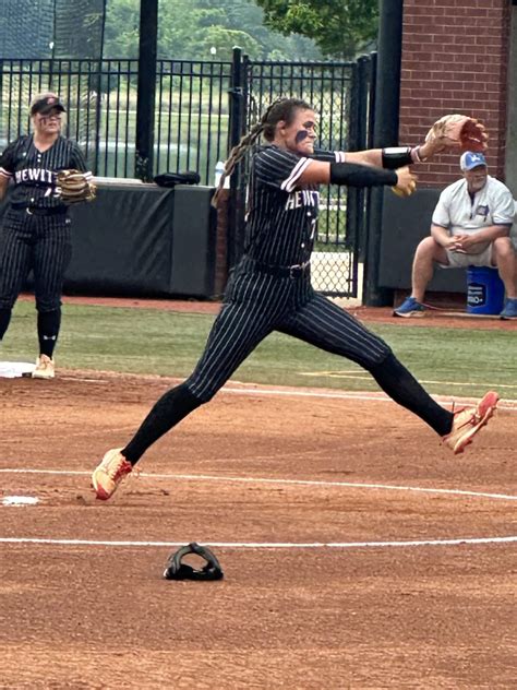
<path fill-rule="evenodd" d="M 188 390 L 208 401 L 273 331 L 351 359 L 365 369 L 389 347 L 311 286 L 310 258 L 317 223 L 317 187 L 297 182 L 311 159 L 342 162 L 344 154 L 311 157 L 269 145 L 253 157 L 244 255 Z"/>

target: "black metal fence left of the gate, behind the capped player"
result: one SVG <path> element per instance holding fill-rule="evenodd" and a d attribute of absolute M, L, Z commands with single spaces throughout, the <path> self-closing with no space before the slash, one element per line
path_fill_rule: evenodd
<path fill-rule="evenodd" d="M 0 145 L 29 128 L 28 104 L 56 91 L 67 135 L 95 175 L 135 177 L 137 60 L 1 60 Z M 159 60 L 154 171 L 196 170 L 212 183 L 228 150 L 230 62 Z"/>

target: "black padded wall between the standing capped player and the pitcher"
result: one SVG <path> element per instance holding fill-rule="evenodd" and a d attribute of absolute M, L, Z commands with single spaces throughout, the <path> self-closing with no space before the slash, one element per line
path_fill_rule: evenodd
<path fill-rule="evenodd" d="M 99 183 L 94 202 L 70 211 L 73 252 L 64 293 L 212 297 L 217 233 L 213 191 L 188 185 Z M 31 276 L 25 287 L 31 289 Z"/>

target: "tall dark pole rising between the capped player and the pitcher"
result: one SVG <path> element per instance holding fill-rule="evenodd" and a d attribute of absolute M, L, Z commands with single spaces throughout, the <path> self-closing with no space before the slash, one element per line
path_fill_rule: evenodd
<path fill-rule="evenodd" d="M 157 43 L 158 0 L 141 0 L 135 175 L 144 182 L 153 179 Z"/>

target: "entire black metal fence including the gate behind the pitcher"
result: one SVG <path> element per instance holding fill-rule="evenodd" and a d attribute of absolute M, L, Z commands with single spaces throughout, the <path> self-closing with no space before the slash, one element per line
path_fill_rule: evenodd
<path fill-rule="evenodd" d="M 95 175 L 135 177 L 137 60 L 0 60 L 0 150 L 29 129 L 29 102 L 56 91 L 68 104 L 67 135 L 83 147 Z M 153 172 L 195 170 L 213 185 L 218 160 L 278 96 L 302 97 L 321 121 L 320 145 L 366 147 L 371 136 L 374 58 L 358 62 L 254 62 L 235 50 L 232 62 L 157 62 Z M 232 187 L 243 195 L 245 170 Z M 239 204 L 235 204 L 236 207 Z M 242 203 L 240 204 L 242 209 Z M 364 226 L 364 195 L 328 188 L 322 193 L 316 249 L 339 253 L 334 278 L 320 289 L 353 296 Z M 233 223 L 239 224 L 239 213 Z M 240 235 L 233 227 L 233 254 Z"/>

